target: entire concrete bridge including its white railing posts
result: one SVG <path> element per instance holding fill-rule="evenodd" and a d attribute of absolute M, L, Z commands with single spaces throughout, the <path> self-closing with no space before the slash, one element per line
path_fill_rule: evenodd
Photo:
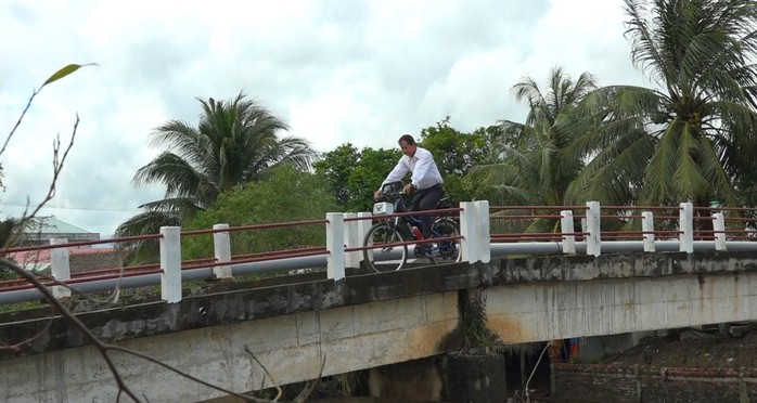
<path fill-rule="evenodd" d="M 697 236 L 692 207 L 683 204 L 672 239 L 655 239 L 651 214 L 642 214 L 647 221 L 636 234 L 641 240 L 603 240 L 611 237 L 600 230 L 603 214 L 599 205 L 588 204 L 583 231 L 574 231 L 570 212 L 563 210 L 556 216 L 563 222 L 556 240 L 497 242 L 502 235 L 490 233 L 488 205 L 461 205 L 461 262 L 346 275 L 359 246 L 350 240 L 356 237 L 350 217 L 334 213 L 325 220 L 325 253 L 268 262 L 287 269 L 322 263 L 325 271 L 278 285 L 221 281 L 196 296 L 181 292 L 182 278 L 224 278 L 266 262 L 234 260 L 219 242 L 216 261 L 187 270 L 177 247 L 179 231 L 166 229 L 156 236 L 159 271 L 127 278 L 153 278 L 147 284 L 161 284 L 161 300 L 77 316 L 105 342 L 238 392 L 272 386 L 261 365 L 286 385 L 317 377 L 323 360 L 328 376 L 458 351 L 458 306 L 470 292 L 482 294 L 488 327 L 504 343 L 757 318 L 757 243 L 729 239 L 733 230 L 726 230 L 722 213 L 713 217 L 715 230 Z M 214 231 L 228 242 L 228 226 Z M 53 269 L 56 262 L 65 269 L 65 259 L 54 259 Z M 97 289 L 107 282 L 79 280 L 76 286 Z M 66 289 L 50 287 L 66 297 Z M 0 288 L 0 300 L 27 298 L 23 292 Z M 0 341 L 21 340 L 30 341 L 0 351 L 0 399 L 115 400 L 116 384 L 104 361 L 62 317 L 4 316 Z M 141 358 L 111 355 L 124 379 L 150 401 L 220 394 Z"/>

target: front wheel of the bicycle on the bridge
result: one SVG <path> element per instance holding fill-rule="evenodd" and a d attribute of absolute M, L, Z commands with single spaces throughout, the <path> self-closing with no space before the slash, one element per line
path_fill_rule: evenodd
<path fill-rule="evenodd" d="M 374 224 L 363 242 L 363 246 L 371 247 L 362 251 L 365 263 L 377 273 L 402 269 L 408 261 L 408 246 L 392 245 L 402 242 L 405 237 L 394 225 L 386 222 Z"/>

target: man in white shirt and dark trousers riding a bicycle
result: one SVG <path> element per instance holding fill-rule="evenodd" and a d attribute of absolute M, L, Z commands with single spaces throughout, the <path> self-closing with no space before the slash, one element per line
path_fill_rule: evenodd
<path fill-rule="evenodd" d="M 399 138 L 399 147 L 402 150 L 402 157 L 397 166 L 386 176 L 382 187 L 386 183 L 401 181 L 408 172 L 412 173 L 410 183 L 405 185 L 402 193 L 413 194 L 410 203 L 410 211 L 432 210 L 445 195 L 442 187 L 444 180 L 436 167 L 434 156 L 428 150 L 419 147 L 415 139 L 410 134 Z M 376 191 L 374 198 L 381 196 L 381 190 Z M 429 214 L 421 214 L 421 234 L 423 238 L 431 238 L 432 223 L 434 218 Z"/>

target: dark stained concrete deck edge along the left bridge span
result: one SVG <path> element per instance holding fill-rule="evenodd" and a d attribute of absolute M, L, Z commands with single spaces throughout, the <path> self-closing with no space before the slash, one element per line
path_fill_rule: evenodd
<path fill-rule="evenodd" d="M 141 303 L 79 313 L 76 316 L 106 342 L 145 336 L 242 323 L 298 312 L 358 306 L 428 294 L 475 288 L 480 285 L 479 268 L 469 264 L 440 265 L 386 274 L 283 284 L 256 289 L 239 289 L 184 298 L 179 303 Z M 18 315 L 0 323 L 0 342 L 11 344 L 37 335 L 49 326 L 46 337 L 20 352 L 0 351 L 0 359 L 79 347 L 82 335 L 67 321 L 47 316 L 26 320 Z"/>

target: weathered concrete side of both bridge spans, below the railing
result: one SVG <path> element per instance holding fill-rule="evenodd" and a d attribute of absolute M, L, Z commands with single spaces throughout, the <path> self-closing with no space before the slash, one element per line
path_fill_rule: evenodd
<path fill-rule="evenodd" d="M 171 306 L 145 303 L 78 317 L 105 341 L 246 391 L 270 386 L 247 349 L 280 384 L 315 377 L 323 356 L 329 375 L 442 353 L 439 342 L 458 323 L 456 291 L 482 286 L 487 287 L 489 325 L 509 342 L 695 325 L 700 320 L 756 320 L 755 257 L 629 253 L 499 260 L 338 283 L 230 289 Z M 48 324 L 0 324 L 0 341 L 22 340 Z M 0 400 L 113 401 L 115 384 L 93 349 L 65 321 L 50 325 L 28 348 L 3 353 Z M 156 365 L 114 355 L 129 385 L 151 401 L 218 395 Z"/>

